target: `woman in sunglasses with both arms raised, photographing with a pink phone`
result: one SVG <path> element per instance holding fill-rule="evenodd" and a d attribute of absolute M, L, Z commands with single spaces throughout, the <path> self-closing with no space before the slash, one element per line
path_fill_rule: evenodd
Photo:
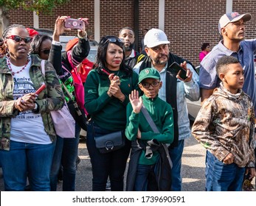
<path fill-rule="evenodd" d="M 70 40 L 66 45 L 66 51 L 61 54 L 62 46 L 60 45 L 60 35 L 71 29 L 65 28 L 64 23 L 68 17 L 59 16 L 55 21 L 55 30 L 52 38 L 46 35 L 37 35 L 32 40 L 32 53 L 38 54 L 39 57 L 49 60 L 55 68 L 58 77 L 69 88 L 74 101 L 76 101 L 74 80 L 71 75 L 72 65 L 79 65 L 89 54 L 90 46 L 87 39 L 86 28 L 77 29 L 78 38 Z M 86 18 L 81 18 L 87 21 Z M 69 49 L 68 49 L 69 48 Z M 70 59 L 68 52 L 71 54 Z M 72 62 L 70 62 L 70 61 Z M 72 65 L 71 65 L 72 64 Z M 69 97 L 66 96 L 66 102 Z M 58 174 L 63 173 L 63 191 L 75 191 L 75 177 L 77 172 L 77 152 L 80 140 L 80 126 L 75 125 L 75 138 L 61 138 L 57 135 L 55 153 L 52 160 L 52 169 L 50 174 L 51 191 L 57 190 Z M 63 172 L 62 169 L 63 168 Z"/>

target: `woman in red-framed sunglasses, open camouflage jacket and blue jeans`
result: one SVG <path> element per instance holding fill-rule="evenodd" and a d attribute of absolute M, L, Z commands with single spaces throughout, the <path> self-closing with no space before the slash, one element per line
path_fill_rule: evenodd
<path fill-rule="evenodd" d="M 6 57 L 0 60 L 0 159 L 5 191 L 50 190 L 55 149 L 51 110 L 63 107 L 64 97 L 52 64 L 29 54 L 32 38 L 18 24 L 3 32 Z M 35 90 L 46 85 L 38 95 Z M 3 90 L 4 88 L 4 90 Z"/>

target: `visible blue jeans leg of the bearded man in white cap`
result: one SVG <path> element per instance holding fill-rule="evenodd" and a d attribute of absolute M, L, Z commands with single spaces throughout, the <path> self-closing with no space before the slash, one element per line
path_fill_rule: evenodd
<path fill-rule="evenodd" d="M 184 140 L 178 142 L 178 146 L 169 149 L 170 159 L 173 162 L 172 168 L 172 187 L 171 191 L 181 191 L 181 157 L 184 149 Z"/>

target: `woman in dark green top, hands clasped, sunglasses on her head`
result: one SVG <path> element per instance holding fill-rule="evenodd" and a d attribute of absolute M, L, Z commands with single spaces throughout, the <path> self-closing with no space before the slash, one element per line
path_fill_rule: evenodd
<path fill-rule="evenodd" d="M 91 116 L 86 144 L 91 157 L 92 190 L 105 191 L 109 176 L 111 191 L 123 191 L 123 177 L 131 142 L 114 152 L 100 153 L 94 138 L 125 130 L 126 105 L 137 89 L 138 74 L 125 65 L 124 43 L 114 36 L 100 40 L 97 60 L 85 83 L 85 106 Z M 100 137 L 99 137 L 100 138 Z"/>

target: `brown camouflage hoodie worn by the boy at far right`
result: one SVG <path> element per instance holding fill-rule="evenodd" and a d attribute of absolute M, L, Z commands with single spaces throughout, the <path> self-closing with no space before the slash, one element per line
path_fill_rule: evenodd
<path fill-rule="evenodd" d="M 202 105 L 192 134 L 218 160 L 231 152 L 239 167 L 255 167 L 254 127 L 255 113 L 249 96 L 242 90 L 232 94 L 221 85 Z"/>

